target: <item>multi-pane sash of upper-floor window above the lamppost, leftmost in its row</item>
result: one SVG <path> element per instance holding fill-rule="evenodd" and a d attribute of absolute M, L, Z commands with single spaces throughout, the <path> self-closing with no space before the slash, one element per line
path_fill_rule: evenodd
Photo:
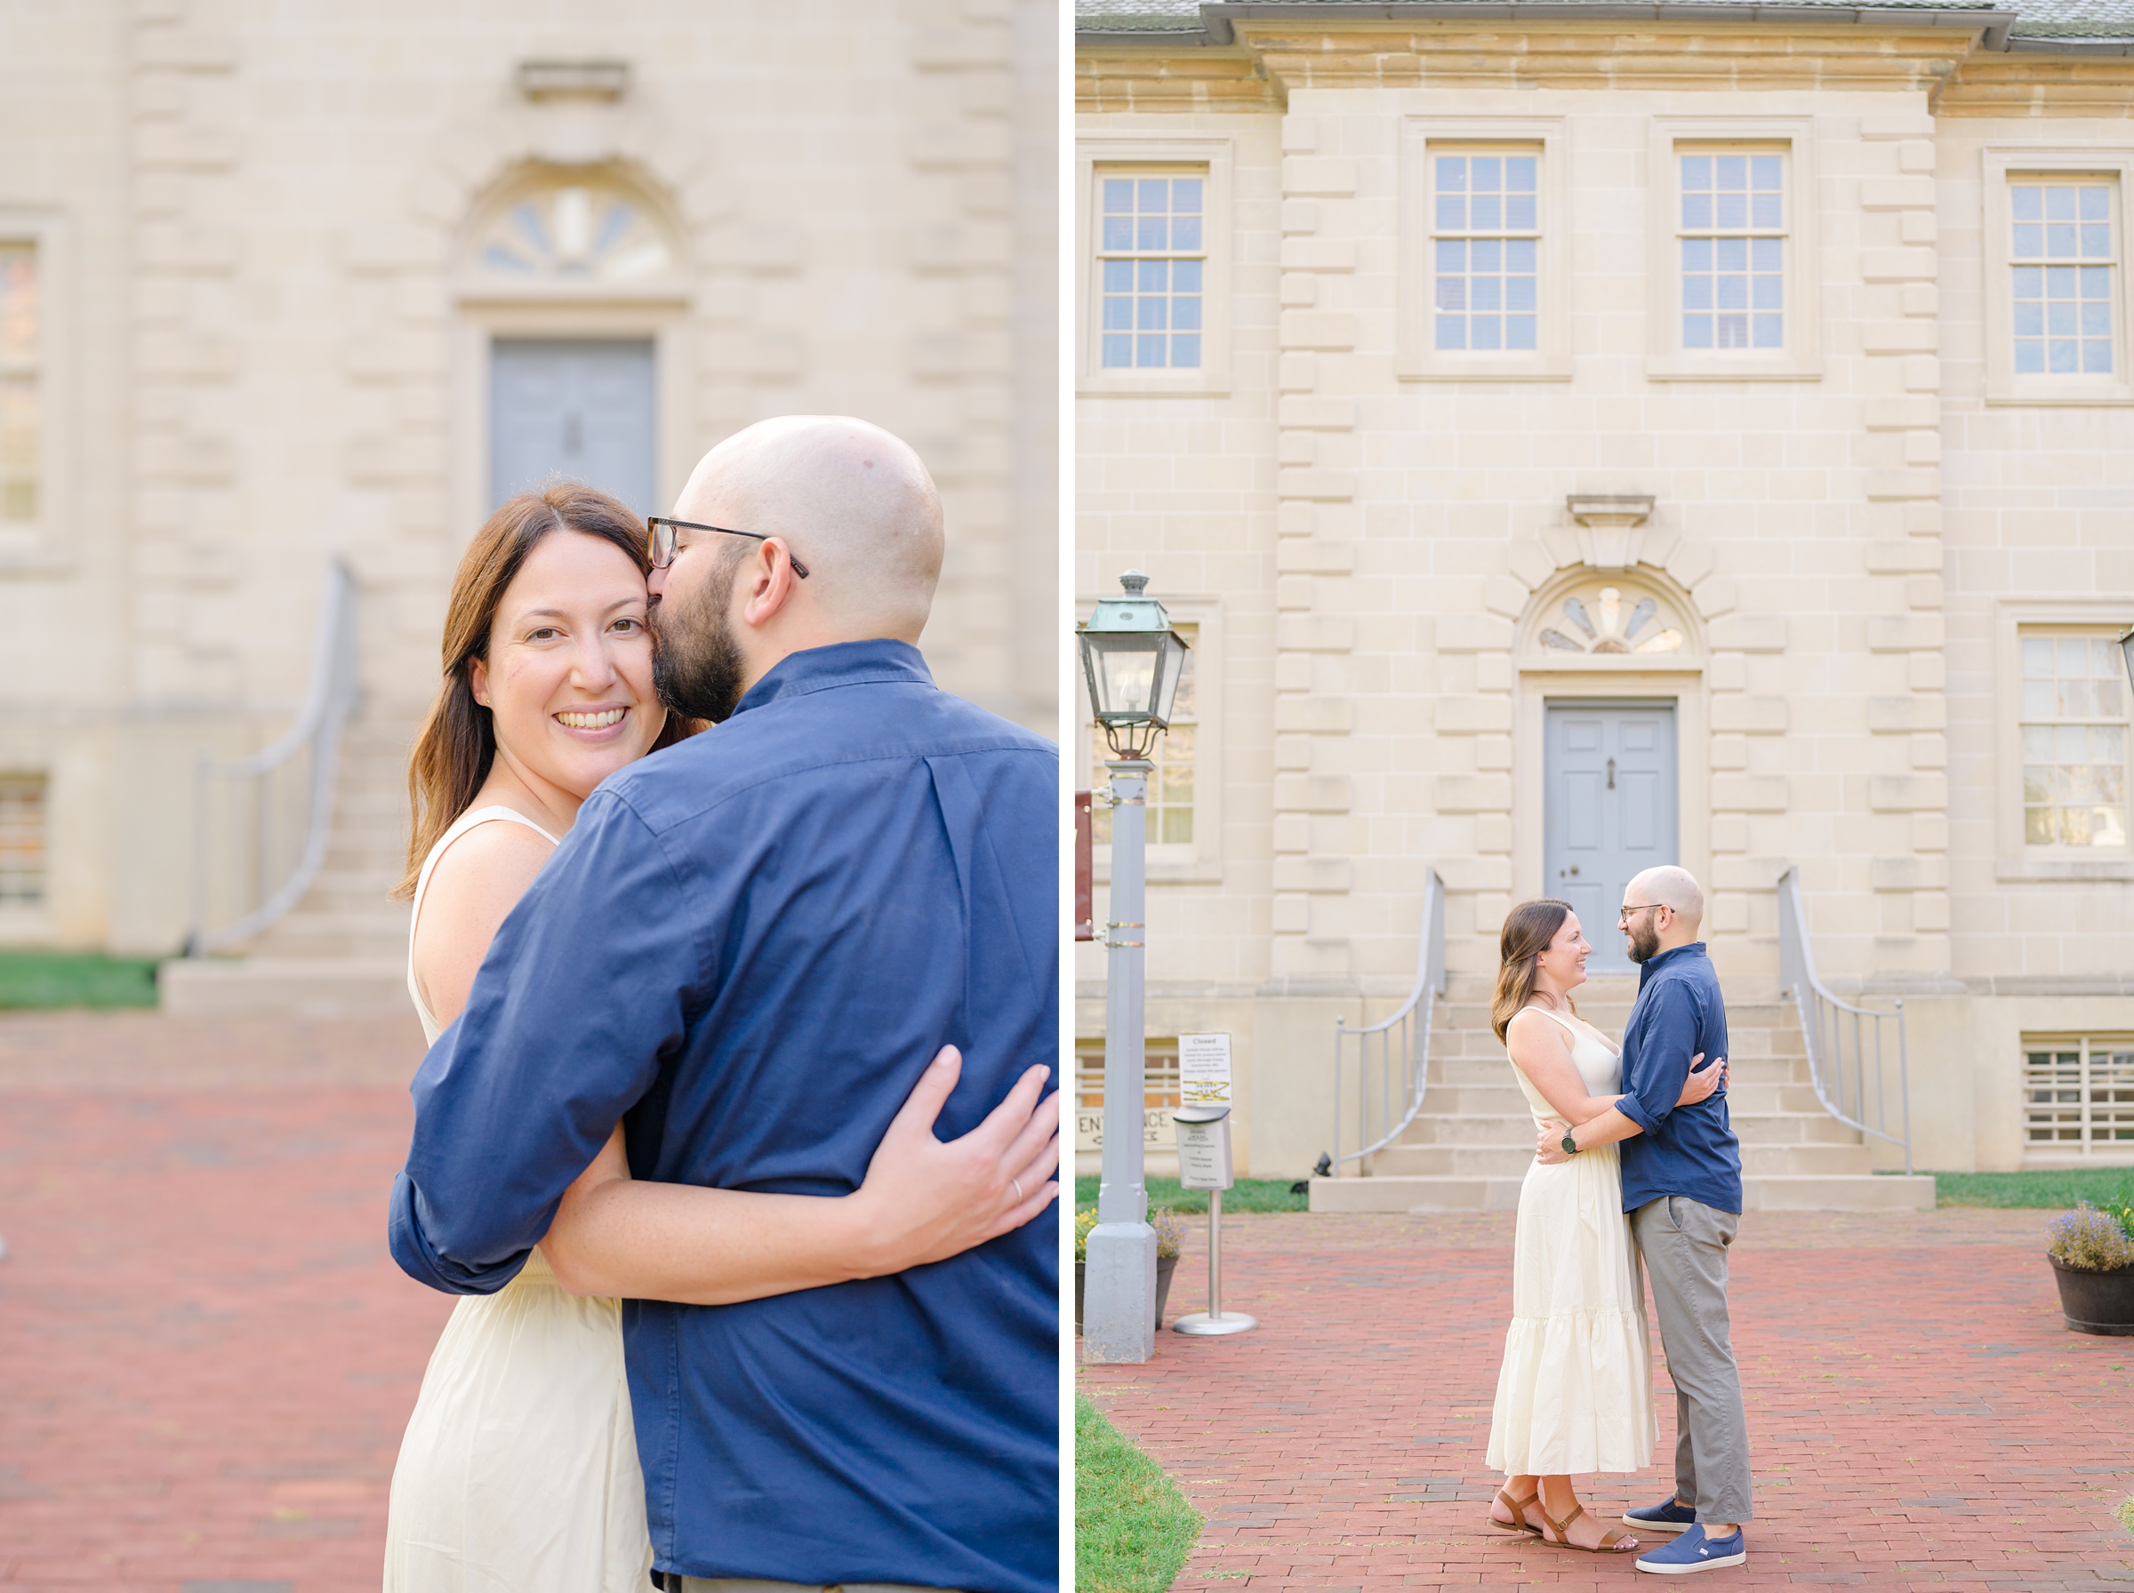
<path fill-rule="evenodd" d="M 1097 173 L 1101 365 L 1197 371 L 1208 275 L 1206 175 Z"/>

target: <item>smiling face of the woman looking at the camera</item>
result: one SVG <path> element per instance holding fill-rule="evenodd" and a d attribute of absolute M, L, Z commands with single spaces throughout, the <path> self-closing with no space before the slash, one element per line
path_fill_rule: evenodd
<path fill-rule="evenodd" d="M 495 721 L 497 757 L 574 798 L 644 757 L 666 708 L 630 554 L 570 529 L 542 537 L 497 601 L 469 685 Z"/>

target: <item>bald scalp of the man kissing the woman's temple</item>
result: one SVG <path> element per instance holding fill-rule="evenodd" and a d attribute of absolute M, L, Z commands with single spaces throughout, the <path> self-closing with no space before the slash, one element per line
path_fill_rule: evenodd
<path fill-rule="evenodd" d="M 783 537 L 839 640 L 915 642 L 941 578 L 941 493 L 901 437 L 851 416 L 736 431 L 689 476 L 674 518 Z M 732 554 L 728 554 L 732 557 Z"/>

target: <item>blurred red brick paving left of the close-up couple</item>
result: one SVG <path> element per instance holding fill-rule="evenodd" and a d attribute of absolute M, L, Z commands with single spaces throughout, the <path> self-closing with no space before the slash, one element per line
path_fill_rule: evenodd
<path fill-rule="evenodd" d="M 412 1019 L 0 1017 L 0 1589 L 376 1593 Z"/>

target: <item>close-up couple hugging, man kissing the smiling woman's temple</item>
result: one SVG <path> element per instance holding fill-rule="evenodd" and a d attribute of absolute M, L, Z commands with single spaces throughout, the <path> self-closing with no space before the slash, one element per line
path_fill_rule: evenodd
<path fill-rule="evenodd" d="M 452 589 L 391 1245 L 465 1299 L 384 1587 L 1048 1593 L 1058 753 L 935 689 L 896 437 L 676 516 L 527 493 Z"/>

